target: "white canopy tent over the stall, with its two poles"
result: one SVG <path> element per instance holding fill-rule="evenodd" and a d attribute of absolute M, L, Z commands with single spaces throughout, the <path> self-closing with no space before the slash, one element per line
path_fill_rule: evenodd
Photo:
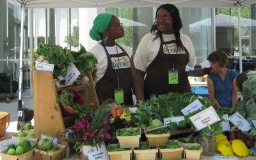
<path fill-rule="evenodd" d="M 116 8 L 116 7 L 157 7 L 161 4 L 172 3 L 182 8 L 221 8 L 237 7 L 238 27 L 239 27 L 239 48 L 241 48 L 241 21 L 240 7 L 253 4 L 256 0 L 6 0 L 22 8 L 21 31 L 23 31 L 24 8 Z M 23 37 L 21 32 L 20 37 Z M 23 38 L 20 41 L 20 60 L 23 55 Z M 243 70 L 242 54 L 240 52 L 240 72 Z M 21 99 L 22 84 L 22 61 L 20 61 L 19 76 L 19 99 Z"/>

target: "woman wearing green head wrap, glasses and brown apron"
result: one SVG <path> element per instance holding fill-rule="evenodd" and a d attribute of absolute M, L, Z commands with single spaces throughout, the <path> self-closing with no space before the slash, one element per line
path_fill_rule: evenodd
<path fill-rule="evenodd" d="M 113 98 L 116 103 L 133 105 L 132 91 L 137 100 L 144 101 L 131 48 L 115 42 L 124 37 L 124 28 L 118 17 L 109 13 L 97 15 L 90 37 L 98 41 L 88 52 L 98 60 L 97 69 L 92 75 L 99 103 Z"/>

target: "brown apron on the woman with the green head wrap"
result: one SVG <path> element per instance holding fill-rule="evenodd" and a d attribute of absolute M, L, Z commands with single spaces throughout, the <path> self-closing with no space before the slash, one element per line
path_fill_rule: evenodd
<path fill-rule="evenodd" d="M 101 104 L 104 101 L 106 101 L 106 99 L 109 99 L 109 98 L 115 99 L 114 90 L 118 88 L 117 76 L 119 75 L 119 87 L 124 89 L 124 105 L 133 105 L 132 90 L 131 90 L 131 67 L 119 68 L 119 71 L 118 71 L 118 67 L 114 68 L 113 62 L 111 61 L 111 58 L 116 58 L 116 59 L 119 58 L 122 60 L 125 57 L 128 57 L 129 62 L 131 64 L 131 59 L 129 55 L 119 45 L 117 45 L 117 47 L 120 47 L 123 52 L 120 54 L 111 54 L 111 55 L 108 54 L 108 50 L 106 50 L 106 47 L 104 45 L 102 46 L 104 47 L 108 57 L 108 67 L 106 69 L 106 72 L 102 76 L 102 78 L 100 78 L 100 80 L 97 82 L 95 86 L 99 103 Z M 118 73 L 118 75 L 116 75 L 116 73 Z"/>

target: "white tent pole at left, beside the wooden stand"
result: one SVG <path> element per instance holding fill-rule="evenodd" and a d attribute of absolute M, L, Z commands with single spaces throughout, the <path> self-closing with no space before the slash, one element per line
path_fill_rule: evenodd
<path fill-rule="evenodd" d="M 23 31 L 24 30 L 24 4 L 21 6 L 21 23 L 20 23 L 20 76 L 19 76 L 19 100 L 21 100 L 22 90 L 22 55 L 23 55 Z"/>

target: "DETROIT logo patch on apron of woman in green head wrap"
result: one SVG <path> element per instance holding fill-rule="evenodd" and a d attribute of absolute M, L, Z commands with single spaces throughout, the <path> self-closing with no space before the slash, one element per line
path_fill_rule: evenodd
<path fill-rule="evenodd" d="M 118 62 L 119 59 L 119 62 Z M 129 57 L 127 57 L 127 55 L 124 55 L 122 57 L 111 57 L 111 61 L 113 62 L 113 69 L 117 69 L 117 68 L 130 68 L 131 67 L 131 62 Z"/>

